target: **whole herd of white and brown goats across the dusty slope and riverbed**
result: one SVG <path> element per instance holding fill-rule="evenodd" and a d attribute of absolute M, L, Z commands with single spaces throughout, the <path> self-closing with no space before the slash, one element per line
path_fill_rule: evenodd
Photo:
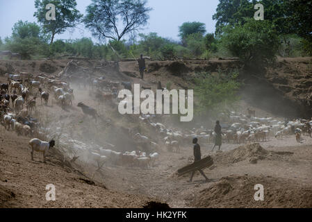
<path fill-rule="evenodd" d="M 61 80 L 56 76 L 39 74 L 33 76 L 21 72 L 18 75 L 6 74 L 7 83 L 1 83 L 1 124 L 6 130 L 13 129 L 17 135 L 31 137 L 40 137 L 40 123 L 38 119 L 31 117 L 35 110 L 36 99 L 40 97 L 45 105 L 49 102 L 50 94 L 54 96 L 55 101 L 60 105 L 72 105 L 74 100 L 74 90 L 69 87 L 69 82 L 74 83 L 70 76 L 68 80 Z M 85 83 L 85 80 L 84 80 Z M 105 80 L 105 78 L 89 78 L 90 89 L 95 92 L 95 98 L 98 101 L 113 101 L 117 98 L 117 90 L 120 87 L 132 89 L 131 83 L 120 83 Z M 10 107 L 10 101 L 12 107 Z M 52 100 L 53 103 L 53 100 Z M 90 108 L 84 103 L 78 103 L 84 114 L 92 116 L 97 121 L 97 110 Z M 312 121 L 305 119 L 295 119 L 293 121 L 279 121 L 273 118 L 256 117 L 254 110 L 247 110 L 247 114 L 238 114 L 230 112 L 227 120 L 222 124 L 222 141 L 232 144 L 242 144 L 246 142 L 265 142 L 269 137 L 282 139 L 286 135 L 296 135 L 297 142 L 300 142 L 301 135 L 311 137 Z M 154 115 L 140 115 L 140 121 L 146 123 L 149 127 L 154 128 L 158 138 L 161 141 L 155 141 L 146 135 L 135 133 L 131 135 L 133 141 L 138 144 L 145 144 L 149 147 L 147 151 L 132 151 L 120 153 L 104 148 L 98 148 L 97 151 L 90 151 L 88 156 L 90 161 L 96 162 L 101 167 L 106 162 L 113 164 L 122 164 L 128 167 L 152 167 L 155 164 L 159 154 L 159 146 L 163 145 L 169 152 L 180 152 L 181 144 L 189 144 L 193 137 L 199 139 L 200 144 L 209 144 L 214 141 L 215 132 L 208 128 L 193 128 L 191 130 L 181 130 L 177 128 L 167 128 L 163 123 L 154 121 Z M 161 145 L 158 145 L 161 144 Z M 33 151 L 43 153 L 45 156 L 49 148 L 55 145 L 54 140 L 44 142 L 40 139 L 31 139 L 31 157 Z"/>

